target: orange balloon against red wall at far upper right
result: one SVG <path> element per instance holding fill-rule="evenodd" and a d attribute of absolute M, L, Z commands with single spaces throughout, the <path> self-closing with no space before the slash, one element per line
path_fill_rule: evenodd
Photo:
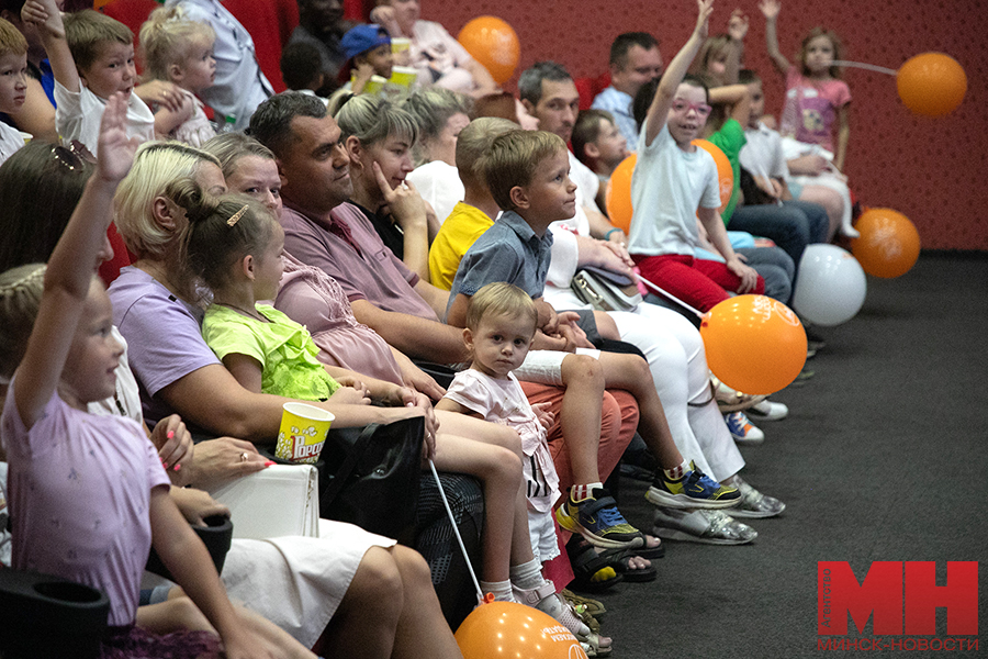
<path fill-rule="evenodd" d="M 907 108 L 924 116 L 943 116 L 961 104 L 967 92 L 967 76 L 956 59 L 943 53 L 923 53 L 899 67 L 899 98 Z"/>

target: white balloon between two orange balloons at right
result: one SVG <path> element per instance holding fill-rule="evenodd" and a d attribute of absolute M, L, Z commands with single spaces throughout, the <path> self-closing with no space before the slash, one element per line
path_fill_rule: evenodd
<path fill-rule="evenodd" d="M 808 245 L 796 278 L 793 308 L 804 320 L 831 327 L 846 323 L 864 304 L 867 282 L 861 264 L 837 245 Z"/>

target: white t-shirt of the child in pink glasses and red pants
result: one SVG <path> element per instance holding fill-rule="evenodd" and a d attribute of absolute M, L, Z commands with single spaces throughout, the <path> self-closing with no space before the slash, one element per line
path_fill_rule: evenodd
<path fill-rule="evenodd" d="M 676 146 L 669 126 L 645 146 L 645 127 L 638 137 L 638 164 L 631 175 L 631 254 L 693 256 L 699 243 L 698 208 L 720 208 L 720 187 L 714 156 L 701 148 L 692 154 Z"/>

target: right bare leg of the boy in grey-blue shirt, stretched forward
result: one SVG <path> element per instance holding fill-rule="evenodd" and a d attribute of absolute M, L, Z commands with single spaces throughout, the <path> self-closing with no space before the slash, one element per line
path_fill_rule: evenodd
<path fill-rule="evenodd" d="M 630 391 L 638 400 L 638 429 L 659 465 L 663 469 L 678 467 L 683 455 L 669 429 L 648 362 L 638 355 L 621 353 L 600 353 L 598 360 L 604 368 L 606 386 Z"/>

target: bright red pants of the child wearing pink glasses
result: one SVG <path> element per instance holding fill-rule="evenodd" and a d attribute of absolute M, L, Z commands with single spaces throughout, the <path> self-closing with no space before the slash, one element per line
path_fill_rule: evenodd
<path fill-rule="evenodd" d="M 642 277 L 700 311 L 710 311 L 730 297 L 728 291 L 738 292 L 741 286 L 741 278 L 720 261 L 684 254 L 637 255 L 631 258 Z M 763 294 L 765 280 L 760 276 L 755 289 L 749 292 Z"/>

